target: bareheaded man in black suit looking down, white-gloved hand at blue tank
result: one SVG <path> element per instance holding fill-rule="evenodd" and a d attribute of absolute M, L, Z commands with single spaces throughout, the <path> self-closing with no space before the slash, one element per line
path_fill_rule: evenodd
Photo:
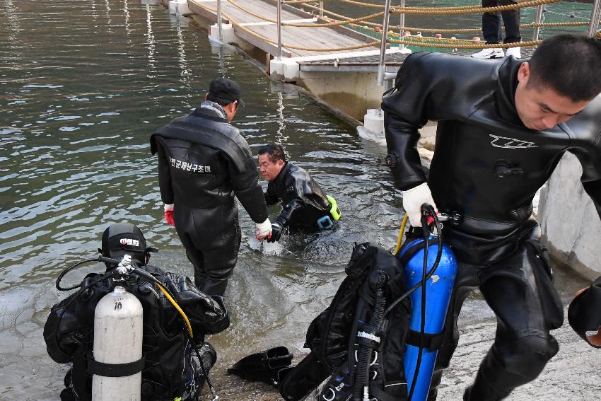
<path fill-rule="evenodd" d="M 424 203 L 462 216 L 445 226 L 460 263 L 428 400 L 457 347 L 457 317 L 471 289 L 479 287 L 498 324 L 464 400 L 503 399 L 558 351 L 549 330 L 561 326 L 563 308 L 532 198 L 569 151 L 601 215 L 600 65 L 600 42 L 573 34 L 544 40 L 527 62 L 413 54 L 383 100 L 387 164 L 412 225 L 421 226 Z M 426 180 L 416 143 L 428 120 L 438 133 Z"/>

